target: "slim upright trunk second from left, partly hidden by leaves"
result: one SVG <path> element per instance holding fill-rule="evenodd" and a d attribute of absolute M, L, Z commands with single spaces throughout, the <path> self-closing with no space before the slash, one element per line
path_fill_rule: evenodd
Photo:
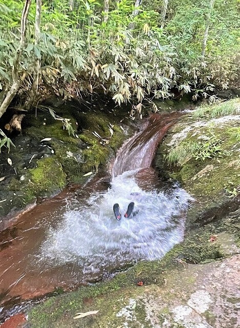
<path fill-rule="evenodd" d="M 35 16 L 35 46 L 39 42 L 40 36 L 40 23 L 41 23 L 41 0 L 36 0 L 36 16 Z M 38 79 L 39 79 L 40 59 L 36 58 L 33 71 L 33 82 L 30 90 L 28 101 L 24 108 L 29 110 L 37 93 Z"/>

